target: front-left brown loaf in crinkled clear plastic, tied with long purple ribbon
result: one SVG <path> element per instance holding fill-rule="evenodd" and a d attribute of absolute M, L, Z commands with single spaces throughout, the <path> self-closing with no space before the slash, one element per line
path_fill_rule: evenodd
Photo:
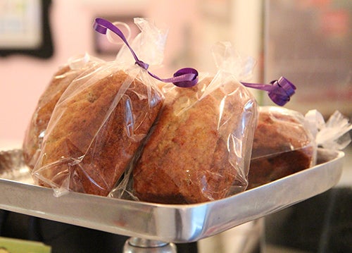
<path fill-rule="evenodd" d="M 70 82 L 58 100 L 32 171 L 57 196 L 68 191 L 108 195 L 163 103 L 155 79 L 123 57 L 91 70 Z"/>

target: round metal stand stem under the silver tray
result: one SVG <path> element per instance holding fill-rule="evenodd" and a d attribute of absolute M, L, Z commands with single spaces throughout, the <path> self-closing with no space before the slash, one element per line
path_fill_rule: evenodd
<path fill-rule="evenodd" d="M 177 249 L 172 242 L 130 237 L 125 242 L 123 253 L 177 253 Z"/>

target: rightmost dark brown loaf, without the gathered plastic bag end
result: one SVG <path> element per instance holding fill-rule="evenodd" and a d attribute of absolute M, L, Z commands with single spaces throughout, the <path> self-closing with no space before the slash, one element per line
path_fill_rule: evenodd
<path fill-rule="evenodd" d="M 277 106 L 260 107 L 248 189 L 310 168 L 315 156 L 316 145 L 301 113 Z"/>

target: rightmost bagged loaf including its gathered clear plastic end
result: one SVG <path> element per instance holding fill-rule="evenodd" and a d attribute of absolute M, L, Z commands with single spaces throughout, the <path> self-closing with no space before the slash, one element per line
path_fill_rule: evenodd
<path fill-rule="evenodd" d="M 317 110 L 303 116 L 277 106 L 261 106 L 254 134 L 249 189 L 315 165 L 317 149 L 344 149 L 352 125 L 335 111 L 325 120 Z"/>

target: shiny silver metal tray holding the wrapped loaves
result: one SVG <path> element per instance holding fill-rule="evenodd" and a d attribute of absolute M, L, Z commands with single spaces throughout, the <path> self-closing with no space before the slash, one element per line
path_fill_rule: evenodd
<path fill-rule="evenodd" d="M 341 177 L 344 152 L 320 149 L 318 165 L 232 197 L 201 204 L 153 204 L 32 184 L 22 152 L 0 152 L 0 209 L 109 233 L 194 242 L 325 192 Z"/>

